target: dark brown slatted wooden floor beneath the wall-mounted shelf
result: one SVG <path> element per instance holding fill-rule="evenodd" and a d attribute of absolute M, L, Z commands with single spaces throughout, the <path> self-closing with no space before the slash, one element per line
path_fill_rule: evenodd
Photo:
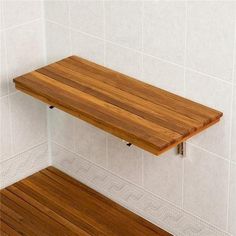
<path fill-rule="evenodd" d="M 1 190 L 0 235 L 170 235 L 49 167 Z"/>

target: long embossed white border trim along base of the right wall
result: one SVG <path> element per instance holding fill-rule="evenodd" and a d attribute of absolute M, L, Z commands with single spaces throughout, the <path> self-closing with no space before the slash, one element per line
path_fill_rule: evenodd
<path fill-rule="evenodd" d="M 230 235 L 66 148 L 54 142 L 52 146 L 53 166 L 173 235 Z"/>

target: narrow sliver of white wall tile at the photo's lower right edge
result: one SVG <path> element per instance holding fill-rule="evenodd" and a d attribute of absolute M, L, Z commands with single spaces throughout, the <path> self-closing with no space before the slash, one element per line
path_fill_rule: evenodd
<path fill-rule="evenodd" d="M 236 235 L 236 164 L 230 169 L 229 232 Z"/>

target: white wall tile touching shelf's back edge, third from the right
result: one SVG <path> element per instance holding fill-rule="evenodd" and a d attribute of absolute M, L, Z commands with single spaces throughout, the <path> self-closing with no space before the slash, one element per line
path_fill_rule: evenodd
<path fill-rule="evenodd" d="M 140 79 L 142 72 L 142 55 L 136 51 L 106 43 L 106 66 Z"/>

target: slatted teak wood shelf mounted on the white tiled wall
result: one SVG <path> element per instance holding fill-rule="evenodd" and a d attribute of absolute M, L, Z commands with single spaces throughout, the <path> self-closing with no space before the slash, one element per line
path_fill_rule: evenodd
<path fill-rule="evenodd" d="M 77 56 L 14 82 L 17 89 L 156 155 L 223 115 Z"/>

